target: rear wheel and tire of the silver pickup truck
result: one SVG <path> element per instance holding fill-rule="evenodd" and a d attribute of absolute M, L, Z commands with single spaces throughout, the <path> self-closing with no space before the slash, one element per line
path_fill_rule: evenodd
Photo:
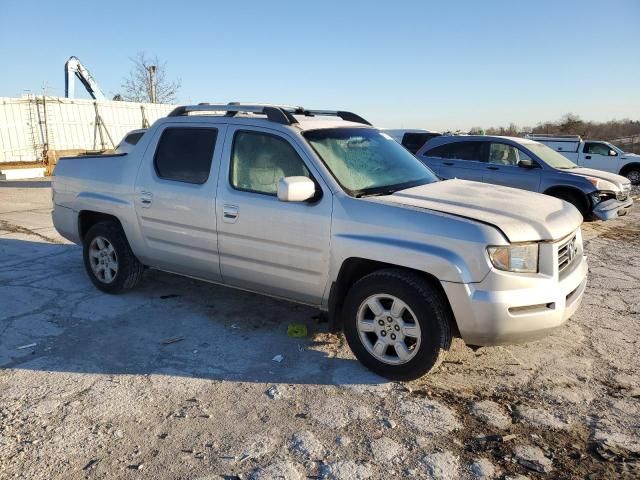
<path fill-rule="evenodd" d="M 119 223 L 93 225 L 83 241 L 84 267 L 93 284 L 103 292 L 119 293 L 135 287 L 142 279 L 144 265 L 131 251 Z"/>

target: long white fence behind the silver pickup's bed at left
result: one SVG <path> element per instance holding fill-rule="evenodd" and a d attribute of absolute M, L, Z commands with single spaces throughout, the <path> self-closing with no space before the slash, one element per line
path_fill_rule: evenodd
<path fill-rule="evenodd" d="M 175 105 L 74 98 L 0 97 L 0 164 L 42 161 L 48 151 L 114 148 Z"/>

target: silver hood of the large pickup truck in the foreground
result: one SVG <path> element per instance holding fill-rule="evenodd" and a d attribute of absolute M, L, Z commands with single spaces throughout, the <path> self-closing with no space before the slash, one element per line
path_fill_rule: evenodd
<path fill-rule="evenodd" d="M 510 242 L 558 240 L 582 223 L 580 212 L 557 198 L 467 180 L 446 180 L 368 200 L 433 210 L 493 225 Z"/>

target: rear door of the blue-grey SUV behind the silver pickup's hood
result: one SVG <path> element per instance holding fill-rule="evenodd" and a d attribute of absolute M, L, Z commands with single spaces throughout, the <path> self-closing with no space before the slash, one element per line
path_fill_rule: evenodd
<path fill-rule="evenodd" d="M 484 169 L 483 142 L 462 141 L 432 148 L 423 154 L 422 160 L 445 180 L 482 181 Z"/>

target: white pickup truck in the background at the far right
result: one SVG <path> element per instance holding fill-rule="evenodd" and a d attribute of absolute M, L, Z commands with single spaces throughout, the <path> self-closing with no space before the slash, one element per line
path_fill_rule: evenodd
<path fill-rule="evenodd" d="M 585 141 L 579 135 L 529 134 L 527 138 L 544 143 L 581 167 L 617 173 L 640 185 L 640 155 L 624 152 L 609 142 Z"/>

